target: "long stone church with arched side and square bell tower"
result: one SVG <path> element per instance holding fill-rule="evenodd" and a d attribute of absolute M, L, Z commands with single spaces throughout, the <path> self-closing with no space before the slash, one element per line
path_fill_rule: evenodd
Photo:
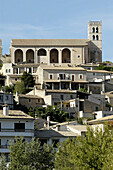
<path fill-rule="evenodd" d="M 102 23 L 88 22 L 88 39 L 12 39 L 13 64 L 79 65 L 102 61 Z"/>

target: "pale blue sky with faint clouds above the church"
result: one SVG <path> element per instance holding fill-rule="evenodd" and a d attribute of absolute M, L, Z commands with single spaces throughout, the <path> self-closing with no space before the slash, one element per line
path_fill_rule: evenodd
<path fill-rule="evenodd" d="M 102 20 L 103 61 L 113 62 L 113 0 L 0 0 L 3 54 L 11 39 L 87 39 L 88 21 Z"/>

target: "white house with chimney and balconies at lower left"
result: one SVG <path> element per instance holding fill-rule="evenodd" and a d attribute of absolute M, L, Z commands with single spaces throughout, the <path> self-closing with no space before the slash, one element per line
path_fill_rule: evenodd
<path fill-rule="evenodd" d="M 4 153 L 8 160 L 10 141 L 15 141 L 15 136 L 23 136 L 30 141 L 34 137 L 34 119 L 20 110 L 8 110 L 4 105 L 0 110 L 0 154 Z"/>

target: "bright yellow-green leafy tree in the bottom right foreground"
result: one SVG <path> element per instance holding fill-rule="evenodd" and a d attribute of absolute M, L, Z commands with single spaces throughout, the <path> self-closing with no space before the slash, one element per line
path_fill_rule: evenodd
<path fill-rule="evenodd" d="M 55 169 L 106 170 L 113 169 L 113 130 L 105 127 L 93 131 L 88 127 L 85 136 L 67 139 L 58 148 Z"/>

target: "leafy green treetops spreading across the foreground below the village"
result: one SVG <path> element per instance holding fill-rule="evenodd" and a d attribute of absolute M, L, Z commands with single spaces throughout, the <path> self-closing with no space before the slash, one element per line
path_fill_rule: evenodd
<path fill-rule="evenodd" d="M 55 154 L 53 147 L 38 140 L 30 143 L 16 137 L 10 143 L 10 164 L 8 170 L 112 170 L 113 169 L 113 130 L 105 126 L 90 129 L 86 136 L 67 139 L 58 147 Z M 6 168 L 2 159 L 0 168 Z"/>

